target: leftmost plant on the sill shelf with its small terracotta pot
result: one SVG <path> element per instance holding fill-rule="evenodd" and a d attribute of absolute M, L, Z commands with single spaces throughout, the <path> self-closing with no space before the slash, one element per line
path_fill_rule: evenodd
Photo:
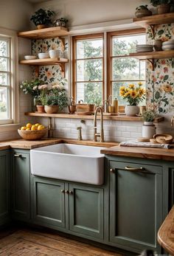
<path fill-rule="evenodd" d="M 24 94 L 30 94 L 32 95 L 32 111 L 36 110 L 36 105 L 39 100 L 39 96 L 41 94 L 41 91 L 39 89 L 39 86 L 41 86 L 44 83 L 43 80 L 34 79 L 31 81 L 23 81 L 19 86 L 21 90 L 24 92 Z"/>

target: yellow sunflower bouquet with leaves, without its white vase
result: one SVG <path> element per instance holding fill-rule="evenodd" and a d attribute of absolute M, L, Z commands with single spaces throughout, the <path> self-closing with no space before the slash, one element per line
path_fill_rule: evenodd
<path fill-rule="evenodd" d="M 128 101 L 128 105 L 138 105 L 140 102 L 145 100 L 145 89 L 142 88 L 141 82 L 138 86 L 131 83 L 128 87 L 121 86 L 119 89 L 119 95 L 123 97 L 124 100 Z"/>

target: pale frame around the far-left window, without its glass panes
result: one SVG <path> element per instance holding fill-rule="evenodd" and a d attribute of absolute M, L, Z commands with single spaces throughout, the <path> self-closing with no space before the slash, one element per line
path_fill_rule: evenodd
<path fill-rule="evenodd" d="M 10 118 L 0 120 L 1 128 L 14 125 L 19 122 L 19 94 L 18 94 L 18 37 L 15 31 L 0 27 L 0 38 L 10 39 Z M 7 131 L 7 128 L 6 128 Z"/>

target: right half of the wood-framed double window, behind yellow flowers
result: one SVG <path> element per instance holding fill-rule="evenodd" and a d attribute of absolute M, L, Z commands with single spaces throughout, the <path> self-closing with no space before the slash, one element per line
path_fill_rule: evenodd
<path fill-rule="evenodd" d="M 142 82 L 145 87 L 145 61 L 125 57 L 136 52 L 136 44 L 146 44 L 145 30 L 108 32 L 108 95 L 112 94 L 125 105 L 119 96 L 119 87 Z"/>

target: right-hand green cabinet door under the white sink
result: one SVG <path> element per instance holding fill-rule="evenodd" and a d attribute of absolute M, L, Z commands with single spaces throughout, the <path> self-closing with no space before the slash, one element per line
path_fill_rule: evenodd
<path fill-rule="evenodd" d="M 69 184 L 69 229 L 103 239 L 103 189 Z"/>

